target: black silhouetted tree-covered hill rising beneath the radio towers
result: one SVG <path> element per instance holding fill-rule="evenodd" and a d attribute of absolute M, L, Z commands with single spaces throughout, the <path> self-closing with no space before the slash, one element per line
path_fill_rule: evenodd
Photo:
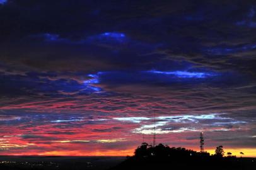
<path fill-rule="evenodd" d="M 223 157 L 222 146 L 217 147 L 216 151 L 216 154 L 210 156 L 207 152 L 195 152 L 194 150 L 187 150 L 181 147 L 171 148 L 163 144 L 152 147 L 143 143 L 140 147 L 137 147 L 134 156 L 127 157 L 124 162 L 112 168 L 112 170 L 256 169 L 255 158 Z"/>

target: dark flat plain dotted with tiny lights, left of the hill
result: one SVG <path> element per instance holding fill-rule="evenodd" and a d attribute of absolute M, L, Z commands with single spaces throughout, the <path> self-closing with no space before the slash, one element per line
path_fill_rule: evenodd
<path fill-rule="evenodd" d="M 108 156 L 0 156 L 1 170 L 105 170 L 117 166 L 125 157 Z"/>

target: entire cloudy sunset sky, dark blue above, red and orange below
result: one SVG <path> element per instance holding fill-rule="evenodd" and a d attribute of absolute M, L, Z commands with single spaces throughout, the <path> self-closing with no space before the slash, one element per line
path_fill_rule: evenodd
<path fill-rule="evenodd" d="M 0 155 L 132 155 L 155 122 L 256 157 L 255 1 L 0 0 L 0 23 Z"/>

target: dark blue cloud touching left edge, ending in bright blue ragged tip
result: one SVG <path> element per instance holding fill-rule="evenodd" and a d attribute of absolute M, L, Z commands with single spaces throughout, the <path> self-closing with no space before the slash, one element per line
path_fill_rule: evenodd
<path fill-rule="evenodd" d="M 86 74 L 81 75 L 81 80 L 66 77 L 56 77 L 54 73 L 27 72 L 25 76 L 6 76 L 1 74 L 1 93 L 8 96 L 36 95 L 59 96 L 69 93 L 94 93 L 101 88 L 93 86 L 97 84 L 95 77 Z"/>

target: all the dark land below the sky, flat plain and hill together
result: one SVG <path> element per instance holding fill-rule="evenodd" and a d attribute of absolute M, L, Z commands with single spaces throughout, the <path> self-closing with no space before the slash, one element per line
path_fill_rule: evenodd
<path fill-rule="evenodd" d="M 161 169 L 256 169 L 256 158 L 223 157 L 224 150 L 217 147 L 215 155 L 195 152 L 182 147 L 146 143 L 137 147 L 132 157 L 76 157 L 76 156 L 0 156 L 1 170 L 15 169 L 88 169 L 88 170 L 161 170 Z"/>

